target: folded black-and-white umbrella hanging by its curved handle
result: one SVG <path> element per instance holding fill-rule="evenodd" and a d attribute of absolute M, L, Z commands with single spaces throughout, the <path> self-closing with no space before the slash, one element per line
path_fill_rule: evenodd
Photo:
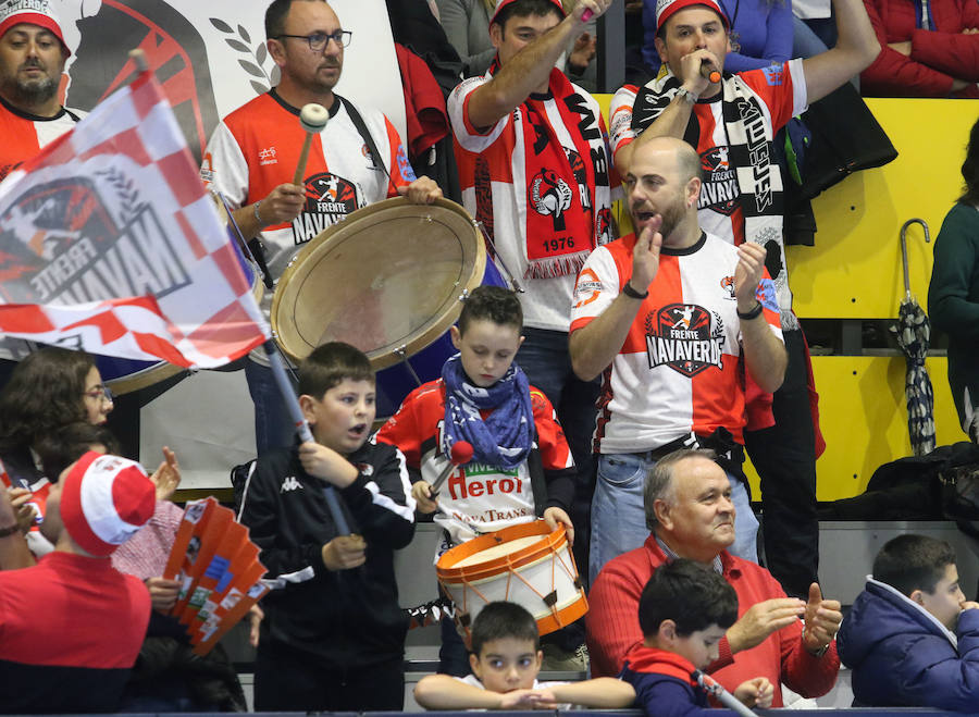
<path fill-rule="evenodd" d="M 907 431 L 916 456 L 934 450 L 934 392 L 925 368 L 925 357 L 931 339 L 931 323 L 925 309 L 912 296 L 907 275 L 907 227 L 920 224 L 925 228 L 925 242 L 931 242 L 928 224 L 922 219 L 909 219 L 901 227 L 901 258 L 904 261 L 904 298 L 897 310 L 897 324 L 891 329 L 897 345 L 904 351 L 907 375 L 904 393 L 907 398 Z"/>

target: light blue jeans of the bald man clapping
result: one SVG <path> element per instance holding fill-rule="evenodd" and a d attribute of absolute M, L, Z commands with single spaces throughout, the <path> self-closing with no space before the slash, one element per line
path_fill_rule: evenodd
<path fill-rule="evenodd" d="M 588 554 L 588 578 L 594 583 L 602 567 L 622 553 L 642 547 L 649 535 L 643 506 L 643 485 L 656 461 L 631 453 L 598 457 L 598 483 L 592 499 L 592 547 Z M 747 490 L 734 475 L 731 502 L 734 504 L 734 543 L 728 552 L 758 561 L 758 519 L 752 510 Z"/>

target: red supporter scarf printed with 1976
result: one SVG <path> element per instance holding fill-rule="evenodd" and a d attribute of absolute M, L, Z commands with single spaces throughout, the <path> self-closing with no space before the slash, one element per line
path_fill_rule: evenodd
<path fill-rule="evenodd" d="M 498 70 L 497 58 L 488 74 Z M 608 239 L 604 222 L 595 217 L 595 208 L 610 201 L 610 168 L 598 119 L 584 90 L 557 69 L 550 71 L 548 92 L 550 97 L 531 95 L 512 115 L 518 146 L 510 161 L 528 261 L 524 279 L 574 275 L 592 249 Z"/>

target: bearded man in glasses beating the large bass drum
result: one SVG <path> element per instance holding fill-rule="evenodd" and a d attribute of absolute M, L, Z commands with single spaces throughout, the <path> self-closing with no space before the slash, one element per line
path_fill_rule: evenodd
<path fill-rule="evenodd" d="M 274 0 L 265 11 L 265 36 L 282 79 L 218 125 L 201 177 L 235 208 L 243 236 L 261 239 L 267 280 L 277 280 L 299 245 L 355 210 L 399 194 L 432 203 L 442 190 L 426 176 L 416 178 L 397 129 L 384 114 L 334 94 L 352 33 L 343 29 L 325 0 Z M 313 137 L 302 183 L 293 184 L 306 138 L 299 111 L 311 102 L 324 107 L 330 121 Z M 262 302 L 267 317 L 271 294 Z M 263 353 L 251 355 L 245 375 L 255 403 L 259 455 L 292 445 L 293 422 Z"/>

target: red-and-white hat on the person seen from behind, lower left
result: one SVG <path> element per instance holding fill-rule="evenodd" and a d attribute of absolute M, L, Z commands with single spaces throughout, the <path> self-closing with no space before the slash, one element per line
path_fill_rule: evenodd
<path fill-rule="evenodd" d="M 157 492 L 127 458 L 86 453 L 61 484 L 61 521 L 86 553 L 107 556 L 153 515 Z"/>

